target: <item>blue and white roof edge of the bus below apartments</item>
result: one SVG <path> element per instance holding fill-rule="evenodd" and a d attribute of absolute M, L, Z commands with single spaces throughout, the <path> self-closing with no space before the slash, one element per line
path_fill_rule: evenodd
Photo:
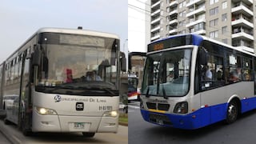
<path fill-rule="evenodd" d="M 246 50 L 241 50 L 238 47 L 230 46 L 230 45 L 227 45 L 224 42 L 219 42 L 217 40 L 214 40 L 212 38 L 208 38 L 206 36 L 199 35 L 199 34 L 176 34 L 176 35 L 171 35 L 170 37 L 161 38 L 161 39 L 159 39 L 157 41 L 151 42 L 148 46 L 150 46 L 152 44 L 154 45 L 154 44 L 157 44 L 157 43 L 160 43 L 160 42 L 164 42 L 165 40 L 168 40 L 168 39 L 181 38 L 181 37 L 186 37 L 186 36 L 191 36 L 191 38 L 192 38 L 192 42 L 190 43 L 191 45 L 199 46 L 201 44 L 201 42 L 205 40 L 205 41 L 216 43 L 218 45 L 226 46 L 226 47 L 228 47 L 228 48 L 230 48 L 232 50 L 238 50 L 238 51 L 241 51 L 242 53 L 250 54 L 250 55 L 254 55 L 255 56 L 255 54 L 252 54 L 252 53 L 250 53 L 250 52 L 248 52 Z M 149 49 L 148 49 L 148 51 L 149 51 Z"/>

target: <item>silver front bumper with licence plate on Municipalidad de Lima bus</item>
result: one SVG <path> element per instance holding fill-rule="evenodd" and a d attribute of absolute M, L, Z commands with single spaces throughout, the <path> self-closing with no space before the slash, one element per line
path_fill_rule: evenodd
<path fill-rule="evenodd" d="M 33 114 L 33 132 L 94 132 L 116 133 L 118 117 L 86 117 Z"/>

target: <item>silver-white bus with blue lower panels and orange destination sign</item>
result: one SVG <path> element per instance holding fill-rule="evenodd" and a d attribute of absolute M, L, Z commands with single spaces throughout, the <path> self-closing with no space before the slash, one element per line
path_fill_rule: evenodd
<path fill-rule="evenodd" d="M 255 74 L 254 54 L 205 36 L 181 34 L 151 42 L 142 81 L 142 118 L 186 130 L 233 123 L 256 108 Z"/>

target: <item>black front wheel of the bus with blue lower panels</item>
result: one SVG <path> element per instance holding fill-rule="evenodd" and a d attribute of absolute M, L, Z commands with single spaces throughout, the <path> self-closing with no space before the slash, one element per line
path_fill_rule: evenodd
<path fill-rule="evenodd" d="M 238 118 L 238 103 L 231 101 L 226 111 L 226 122 L 228 124 L 233 123 Z"/>

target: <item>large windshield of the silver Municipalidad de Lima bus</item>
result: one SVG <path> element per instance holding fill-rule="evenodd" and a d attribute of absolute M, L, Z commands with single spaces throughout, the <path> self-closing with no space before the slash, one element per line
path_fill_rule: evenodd
<path fill-rule="evenodd" d="M 52 94 L 118 95 L 115 39 L 58 36 L 58 41 L 43 38 L 45 43 L 41 44 L 41 65 L 35 68 L 37 91 Z"/>

